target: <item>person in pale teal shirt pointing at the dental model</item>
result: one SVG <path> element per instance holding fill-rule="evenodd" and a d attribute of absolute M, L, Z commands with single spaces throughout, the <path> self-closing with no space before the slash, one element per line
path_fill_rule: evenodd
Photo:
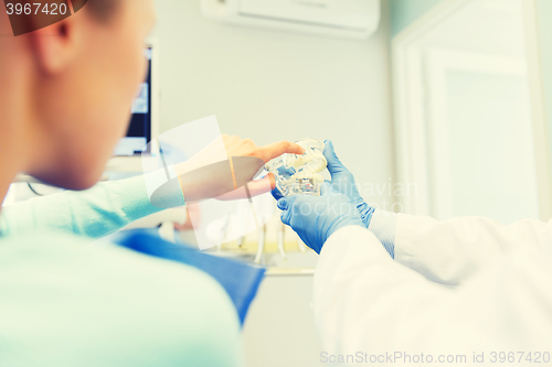
<path fill-rule="evenodd" d="M 0 198 L 18 172 L 70 190 L 95 185 L 145 77 L 152 3 L 89 0 L 73 17 L 17 37 L 0 10 Z M 289 142 L 224 142 L 230 156 L 263 161 L 302 152 Z M 0 366 L 241 364 L 237 315 L 212 278 L 115 246 L 91 248 L 76 236 L 100 236 L 157 209 L 144 180 L 127 185 L 67 192 L 3 214 Z M 184 203 L 181 191 L 173 195 L 174 205 Z M 108 224 L 94 227 L 99 223 Z"/>

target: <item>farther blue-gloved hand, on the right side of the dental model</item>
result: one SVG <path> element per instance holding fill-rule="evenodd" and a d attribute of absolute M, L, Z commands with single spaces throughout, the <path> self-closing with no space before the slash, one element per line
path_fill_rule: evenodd
<path fill-rule="evenodd" d="M 351 199 L 360 213 L 364 227 L 368 228 L 374 214 L 374 208 L 369 206 L 362 196 L 360 196 L 354 176 L 336 155 L 331 140 L 326 140 L 325 144 L 323 156 L 328 161 L 328 171 L 331 174 L 331 187 Z"/>

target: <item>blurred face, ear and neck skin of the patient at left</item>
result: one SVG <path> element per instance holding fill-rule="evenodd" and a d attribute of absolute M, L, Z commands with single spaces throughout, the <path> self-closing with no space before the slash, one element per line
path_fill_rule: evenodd
<path fill-rule="evenodd" d="M 93 185 L 126 132 L 153 21 L 152 0 L 88 0 L 14 37 L 0 6 L 0 156 L 9 149 L 20 170 L 62 187 Z"/>

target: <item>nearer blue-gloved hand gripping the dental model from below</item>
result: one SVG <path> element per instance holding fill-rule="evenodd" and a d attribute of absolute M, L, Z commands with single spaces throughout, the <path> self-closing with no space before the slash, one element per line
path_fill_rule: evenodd
<path fill-rule="evenodd" d="M 344 226 L 364 227 L 357 206 L 343 194 L 322 184 L 321 196 L 291 196 L 278 201 L 282 222 L 290 226 L 302 241 L 320 253 L 326 240 Z"/>

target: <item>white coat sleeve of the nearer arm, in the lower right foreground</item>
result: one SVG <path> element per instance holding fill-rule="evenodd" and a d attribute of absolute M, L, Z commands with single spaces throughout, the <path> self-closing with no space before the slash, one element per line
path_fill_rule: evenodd
<path fill-rule="evenodd" d="M 315 274 L 321 360 L 392 354 L 386 363 L 408 365 L 393 360 L 400 352 L 431 354 L 434 363 L 464 354 L 469 364 L 474 352 L 488 358 L 492 350 L 550 346 L 552 257 L 522 251 L 497 258 L 474 282 L 450 289 L 393 261 L 367 229 L 341 228 L 323 246 Z"/>

